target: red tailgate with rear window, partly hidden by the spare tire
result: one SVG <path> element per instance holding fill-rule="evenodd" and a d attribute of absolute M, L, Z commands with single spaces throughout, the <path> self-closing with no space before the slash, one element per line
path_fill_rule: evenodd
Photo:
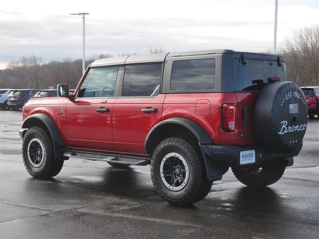
<path fill-rule="evenodd" d="M 234 92 L 237 99 L 237 130 L 241 137 L 241 144 L 255 143 L 254 112 L 256 100 L 267 79 L 279 77 L 280 81 L 287 81 L 286 63 L 278 66 L 275 56 L 246 55 L 246 63 L 240 58 L 233 59 Z M 284 60 L 284 58 L 282 58 Z"/>

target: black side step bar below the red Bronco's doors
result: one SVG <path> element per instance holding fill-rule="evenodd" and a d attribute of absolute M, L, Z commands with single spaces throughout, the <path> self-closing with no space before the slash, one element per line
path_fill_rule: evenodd
<path fill-rule="evenodd" d="M 147 157 L 116 155 L 80 150 L 64 150 L 63 156 L 72 158 L 82 158 L 93 161 L 104 161 L 109 163 L 122 163 L 142 166 L 148 165 L 150 163 L 150 158 Z"/>

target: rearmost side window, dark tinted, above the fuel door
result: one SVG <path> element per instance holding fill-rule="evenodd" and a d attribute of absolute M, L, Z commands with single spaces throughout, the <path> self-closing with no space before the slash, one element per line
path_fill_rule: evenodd
<path fill-rule="evenodd" d="M 215 59 L 174 61 L 171 90 L 207 90 L 215 87 Z"/>

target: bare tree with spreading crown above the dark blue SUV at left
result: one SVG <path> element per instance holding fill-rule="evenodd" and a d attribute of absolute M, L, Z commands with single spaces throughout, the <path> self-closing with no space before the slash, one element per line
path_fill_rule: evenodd
<path fill-rule="evenodd" d="M 41 57 L 31 55 L 30 57 L 22 56 L 21 64 L 32 83 L 32 87 L 36 89 L 42 88 L 42 65 L 44 64 Z"/>

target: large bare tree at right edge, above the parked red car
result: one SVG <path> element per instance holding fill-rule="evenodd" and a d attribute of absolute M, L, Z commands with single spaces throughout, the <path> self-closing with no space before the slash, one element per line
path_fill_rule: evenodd
<path fill-rule="evenodd" d="M 286 58 L 290 81 L 319 85 L 319 25 L 294 31 L 280 50 Z"/>

